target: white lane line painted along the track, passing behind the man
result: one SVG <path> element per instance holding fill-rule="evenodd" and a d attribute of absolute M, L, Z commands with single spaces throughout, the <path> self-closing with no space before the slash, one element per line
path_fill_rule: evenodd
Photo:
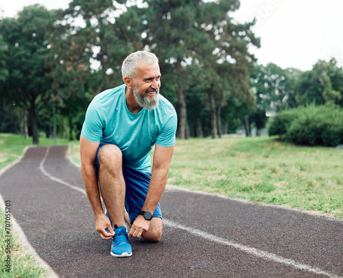
<path fill-rule="evenodd" d="M 42 170 L 44 175 L 46 175 L 47 177 L 49 177 L 53 181 L 57 181 L 58 183 L 63 184 L 64 186 L 69 186 L 69 188 L 72 188 L 73 190 L 78 190 L 79 192 L 86 194 L 86 191 L 84 189 L 78 188 L 76 186 L 72 186 L 71 184 L 68 184 L 66 181 L 62 181 L 62 179 L 58 179 L 57 177 L 54 177 L 54 176 L 50 175 L 49 173 L 47 173 L 47 171 L 44 169 L 44 163 L 45 163 L 45 160 L 47 159 L 47 155 L 49 154 L 49 149 L 50 149 L 50 147 L 48 147 L 48 149 L 45 153 L 45 157 L 40 162 L 40 170 Z M 224 244 L 226 246 L 234 247 L 235 249 L 239 249 L 241 251 L 249 253 L 250 255 L 255 255 L 256 257 L 261 257 L 264 260 L 269 260 L 269 261 L 277 262 L 280 264 L 287 264 L 287 265 L 292 266 L 294 268 L 297 268 L 300 270 L 305 270 L 309 273 L 315 273 L 318 275 L 325 275 L 325 276 L 330 277 L 330 278 L 343 278 L 342 276 L 338 276 L 338 275 L 335 275 L 333 273 L 328 273 L 324 270 L 321 270 L 320 268 L 315 268 L 315 267 L 309 266 L 307 264 L 300 264 L 294 260 L 286 259 L 285 257 L 281 257 L 281 256 L 275 255 L 273 253 L 262 251 L 262 250 L 259 250 L 259 249 L 253 248 L 253 247 L 247 247 L 247 246 L 239 244 L 239 243 L 230 242 L 229 240 L 226 240 L 225 238 L 220 238 L 219 236 L 214 236 L 211 233 L 206 233 L 205 231 L 200 231 L 198 229 L 186 227 L 186 226 L 180 225 L 178 223 L 175 223 L 171 220 L 167 220 L 165 218 L 163 218 L 163 224 L 165 224 L 169 227 L 174 227 L 176 229 L 182 229 L 184 231 L 188 231 L 189 233 L 192 233 L 195 236 L 199 236 L 200 238 L 204 238 L 205 240 L 211 240 L 212 242 L 216 242 L 219 244 Z"/>

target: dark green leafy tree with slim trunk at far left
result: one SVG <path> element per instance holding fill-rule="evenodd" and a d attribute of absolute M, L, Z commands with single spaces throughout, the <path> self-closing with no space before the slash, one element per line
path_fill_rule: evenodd
<path fill-rule="evenodd" d="M 33 144 L 38 144 L 36 118 L 51 87 L 45 57 L 56 11 L 40 5 L 25 7 L 18 18 L 4 18 L 0 30 L 8 43 L 8 71 L 5 97 L 29 112 Z"/>

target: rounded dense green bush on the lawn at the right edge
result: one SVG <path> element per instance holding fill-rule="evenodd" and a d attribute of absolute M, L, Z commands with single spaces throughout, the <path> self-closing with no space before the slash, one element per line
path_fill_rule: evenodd
<path fill-rule="evenodd" d="M 343 143 L 343 110 L 335 105 L 285 110 L 272 118 L 268 131 L 296 144 L 337 146 Z"/>

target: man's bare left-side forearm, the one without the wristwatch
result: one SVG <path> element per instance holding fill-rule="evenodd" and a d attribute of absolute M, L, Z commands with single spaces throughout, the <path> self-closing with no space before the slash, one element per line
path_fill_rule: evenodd
<path fill-rule="evenodd" d="M 99 187 L 97 186 L 95 169 L 93 166 L 81 166 L 81 174 L 84 180 L 84 187 L 86 188 L 86 193 L 91 206 L 93 207 L 95 216 L 97 216 L 97 214 L 104 213 L 104 210 L 102 209 L 102 201 L 100 200 Z"/>

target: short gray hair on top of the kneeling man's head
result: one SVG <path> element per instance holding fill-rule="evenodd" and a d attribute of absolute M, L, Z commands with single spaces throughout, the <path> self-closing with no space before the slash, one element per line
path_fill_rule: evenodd
<path fill-rule="evenodd" d="M 148 51 L 136 51 L 126 57 L 121 66 L 121 75 L 123 79 L 130 77 L 134 79 L 139 64 L 143 62 L 145 64 L 158 64 L 158 58 L 154 53 Z"/>

